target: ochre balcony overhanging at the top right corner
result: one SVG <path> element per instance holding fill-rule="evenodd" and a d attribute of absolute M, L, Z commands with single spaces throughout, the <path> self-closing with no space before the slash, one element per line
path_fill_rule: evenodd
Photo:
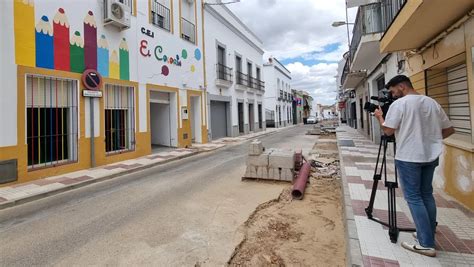
<path fill-rule="evenodd" d="M 472 9 L 472 0 L 408 0 L 380 40 L 380 51 L 421 48 Z"/>

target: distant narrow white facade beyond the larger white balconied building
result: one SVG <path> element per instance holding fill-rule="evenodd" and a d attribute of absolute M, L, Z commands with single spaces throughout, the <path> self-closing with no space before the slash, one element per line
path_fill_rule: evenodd
<path fill-rule="evenodd" d="M 268 59 L 263 70 L 267 126 L 279 128 L 293 124 L 291 72 L 274 57 Z"/>

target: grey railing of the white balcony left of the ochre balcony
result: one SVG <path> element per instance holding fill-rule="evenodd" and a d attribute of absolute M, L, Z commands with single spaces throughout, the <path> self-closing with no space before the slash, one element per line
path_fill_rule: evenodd
<path fill-rule="evenodd" d="M 371 33 L 383 32 L 384 28 L 382 26 L 381 3 L 372 3 L 359 7 L 354 30 L 352 31 L 351 59 L 354 58 L 362 36 Z"/>

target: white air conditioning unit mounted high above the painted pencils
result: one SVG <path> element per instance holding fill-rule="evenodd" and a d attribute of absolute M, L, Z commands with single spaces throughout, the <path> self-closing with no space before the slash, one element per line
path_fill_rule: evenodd
<path fill-rule="evenodd" d="M 118 0 L 104 0 L 104 25 L 113 25 L 120 30 L 130 28 L 130 7 Z"/>

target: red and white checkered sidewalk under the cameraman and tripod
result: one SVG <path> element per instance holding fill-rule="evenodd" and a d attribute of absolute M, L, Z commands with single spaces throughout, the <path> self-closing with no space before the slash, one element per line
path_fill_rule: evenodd
<path fill-rule="evenodd" d="M 398 243 L 391 243 L 387 227 L 367 219 L 364 210 L 372 191 L 378 145 L 348 126 L 338 128 L 337 139 L 343 175 L 348 247 L 352 261 L 349 265 L 474 266 L 474 212 L 443 192 L 436 191 L 437 257 L 430 258 L 403 249 L 400 246 L 402 241 L 413 241 L 408 232 L 400 232 Z M 387 169 L 393 175 L 393 158 L 387 162 Z M 414 227 L 400 189 L 397 189 L 396 202 L 398 227 Z M 376 193 L 374 217 L 387 221 L 387 210 L 387 190 L 381 182 Z"/>

